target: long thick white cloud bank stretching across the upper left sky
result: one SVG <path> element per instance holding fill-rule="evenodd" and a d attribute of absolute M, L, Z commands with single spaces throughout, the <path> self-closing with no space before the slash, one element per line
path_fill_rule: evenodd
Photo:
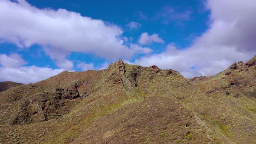
<path fill-rule="evenodd" d="M 0 41 L 20 47 L 39 44 L 64 52 L 86 52 L 107 59 L 130 58 L 135 52 L 124 45 L 122 29 L 65 9 L 39 9 L 25 0 L 0 0 Z M 61 60 L 52 56 L 57 65 Z M 63 60 L 63 59 L 62 59 Z M 71 69 L 72 64 L 64 59 Z"/>

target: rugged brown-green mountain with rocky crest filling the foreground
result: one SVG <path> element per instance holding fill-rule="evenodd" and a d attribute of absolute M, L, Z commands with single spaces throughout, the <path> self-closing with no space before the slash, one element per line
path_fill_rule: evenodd
<path fill-rule="evenodd" d="M 0 92 L 0 142 L 255 144 L 256 56 L 214 76 L 128 65 Z"/>

